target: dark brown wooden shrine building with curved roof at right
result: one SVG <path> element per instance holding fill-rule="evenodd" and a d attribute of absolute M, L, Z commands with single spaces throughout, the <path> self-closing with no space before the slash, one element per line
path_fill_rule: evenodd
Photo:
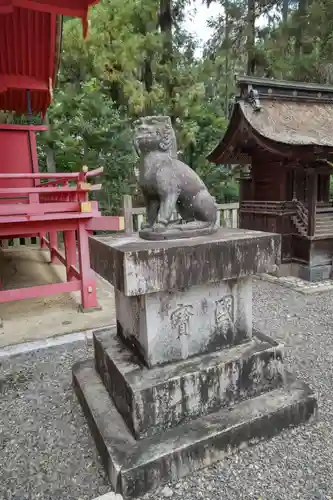
<path fill-rule="evenodd" d="M 240 227 L 281 233 L 280 274 L 332 274 L 333 86 L 238 79 L 229 126 L 208 159 L 245 167 Z"/>

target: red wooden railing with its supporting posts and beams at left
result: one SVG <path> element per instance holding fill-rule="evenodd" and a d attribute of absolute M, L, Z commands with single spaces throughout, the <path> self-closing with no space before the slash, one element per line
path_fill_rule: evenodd
<path fill-rule="evenodd" d="M 0 173 L 0 240 L 38 238 L 50 250 L 51 262 L 66 267 L 67 281 L 0 290 L 0 302 L 42 297 L 81 290 L 84 309 L 97 306 L 96 279 L 90 268 L 89 234 L 98 230 L 123 229 L 123 218 L 102 217 L 98 203 L 89 201 L 89 192 L 101 189 L 88 179 L 103 169 L 78 173 Z M 33 179 L 37 186 L 1 187 L 3 181 Z M 40 183 L 42 180 L 47 180 Z M 17 183 L 18 184 L 18 183 Z M 63 234 L 63 249 L 58 237 Z"/>

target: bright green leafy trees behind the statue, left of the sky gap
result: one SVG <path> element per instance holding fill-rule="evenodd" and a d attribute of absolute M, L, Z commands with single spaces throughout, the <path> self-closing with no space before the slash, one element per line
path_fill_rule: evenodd
<path fill-rule="evenodd" d="M 184 161 L 223 200 L 225 172 L 205 156 L 226 127 L 224 100 L 210 93 L 216 71 L 195 57 L 197 41 L 183 29 L 186 0 L 102 0 L 91 13 L 88 40 L 78 20 L 63 26 L 61 66 L 50 133 L 43 138 L 44 168 L 104 166 L 102 209 L 118 213 L 131 191 L 136 157 L 131 123 L 143 114 L 169 114 Z M 221 184 L 222 182 L 222 184 Z"/>

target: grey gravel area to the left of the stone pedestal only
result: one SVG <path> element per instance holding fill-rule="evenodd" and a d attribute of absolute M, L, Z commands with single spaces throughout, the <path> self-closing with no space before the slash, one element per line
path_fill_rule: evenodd
<path fill-rule="evenodd" d="M 71 386 L 83 342 L 0 366 L 0 499 L 91 500 L 110 490 Z"/>

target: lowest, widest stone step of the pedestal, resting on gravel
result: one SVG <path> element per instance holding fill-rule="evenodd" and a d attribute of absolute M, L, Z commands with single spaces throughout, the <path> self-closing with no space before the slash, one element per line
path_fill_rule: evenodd
<path fill-rule="evenodd" d="M 141 496 L 162 482 L 177 480 L 304 422 L 316 409 L 311 390 L 287 379 L 284 388 L 135 442 L 93 361 L 76 365 L 73 381 L 112 486 L 125 498 Z"/>

